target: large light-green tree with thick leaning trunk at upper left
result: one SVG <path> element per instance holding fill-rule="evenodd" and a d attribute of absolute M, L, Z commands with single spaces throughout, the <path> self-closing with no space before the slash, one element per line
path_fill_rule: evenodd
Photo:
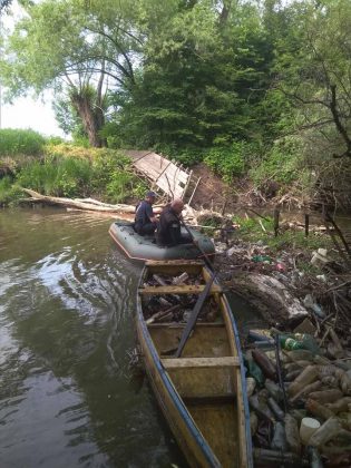
<path fill-rule="evenodd" d="M 53 88 L 66 94 L 92 146 L 104 145 L 105 94 L 133 86 L 138 50 L 130 18 L 134 2 L 81 0 L 26 3 L 26 16 L 8 38 L 0 62 L 8 97 Z"/>

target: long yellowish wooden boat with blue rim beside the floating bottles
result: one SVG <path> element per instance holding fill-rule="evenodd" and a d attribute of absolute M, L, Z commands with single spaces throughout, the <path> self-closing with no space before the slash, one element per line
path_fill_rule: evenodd
<path fill-rule="evenodd" d="M 170 281 L 184 272 L 199 277 L 199 284 L 149 285 L 154 277 Z M 240 340 L 227 299 L 209 277 L 201 261 L 146 262 L 137 293 L 137 333 L 152 387 L 189 466 L 247 468 L 253 461 Z M 148 318 L 149 304 L 157 304 L 157 298 L 196 302 L 209 284 L 204 308 L 215 304 L 215 316 L 209 322 L 198 318 L 175 358 L 186 323 L 157 323 L 156 314 Z"/>

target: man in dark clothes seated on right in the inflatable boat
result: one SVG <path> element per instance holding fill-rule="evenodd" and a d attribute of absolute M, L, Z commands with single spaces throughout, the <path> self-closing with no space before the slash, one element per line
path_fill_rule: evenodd
<path fill-rule="evenodd" d="M 165 206 L 159 216 L 157 226 L 157 244 L 172 247 L 178 244 L 189 244 L 192 238 L 188 234 L 181 232 L 181 215 L 184 208 L 182 198 L 175 198 L 169 205 Z"/>

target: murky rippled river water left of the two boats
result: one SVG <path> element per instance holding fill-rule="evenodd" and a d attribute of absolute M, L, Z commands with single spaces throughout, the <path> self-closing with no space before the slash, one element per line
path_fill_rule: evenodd
<path fill-rule="evenodd" d="M 130 370 L 140 266 L 111 221 L 0 212 L 0 467 L 185 466 Z"/>

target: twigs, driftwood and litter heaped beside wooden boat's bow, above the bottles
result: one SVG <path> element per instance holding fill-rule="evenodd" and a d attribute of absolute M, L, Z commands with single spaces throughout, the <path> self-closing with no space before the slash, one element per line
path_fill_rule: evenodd
<path fill-rule="evenodd" d="M 260 235 L 256 227 L 247 227 L 260 222 L 246 221 L 226 243 L 216 242 L 221 282 L 256 306 L 269 326 L 292 331 L 308 319 L 316 335 L 323 326 L 348 335 L 348 257 L 340 256 L 322 226 L 312 228 L 309 237 L 293 226 L 274 237 L 267 228 Z"/>

